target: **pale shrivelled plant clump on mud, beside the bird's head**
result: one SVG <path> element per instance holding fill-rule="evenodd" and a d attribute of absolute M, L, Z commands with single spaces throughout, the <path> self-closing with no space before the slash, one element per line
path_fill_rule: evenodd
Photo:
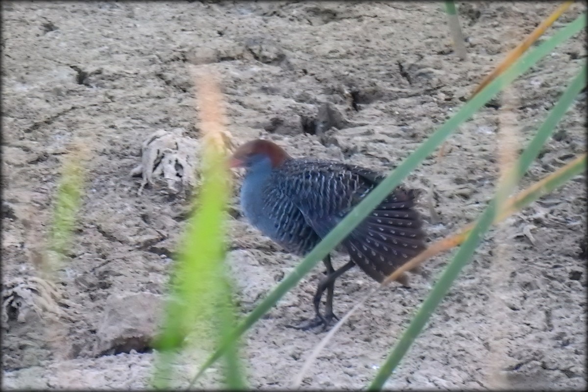
<path fill-rule="evenodd" d="M 138 194 L 146 185 L 162 183 L 168 192 L 175 195 L 189 193 L 201 184 L 201 142 L 183 136 L 185 129 L 157 130 L 143 142 L 141 164 L 131 170 L 131 175 L 142 176 Z M 227 133 L 223 140 L 228 150 L 232 141 Z"/>

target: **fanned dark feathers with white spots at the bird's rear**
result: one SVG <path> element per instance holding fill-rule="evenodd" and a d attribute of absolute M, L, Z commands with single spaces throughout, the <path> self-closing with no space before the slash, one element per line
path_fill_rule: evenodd
<path fill-rule="evenodd" d="M 415 191 L 396 189 L 343 242 L 349 256 L 377 282 L 425 249 Z M 406 276 L 399 279 L 407 284 Z"/>

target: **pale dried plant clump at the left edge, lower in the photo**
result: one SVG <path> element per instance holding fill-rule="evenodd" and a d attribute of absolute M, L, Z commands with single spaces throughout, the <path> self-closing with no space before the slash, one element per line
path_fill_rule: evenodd
<path fill-rule="evenodd" d="M 64 299 L 54 284 L 34 276 L 18 277 L 2 287 L 2 325 L 9 321 L 25 323 L 31 312 L 41 319 L 65 316 L 62 307 L 74 304 Z"/>

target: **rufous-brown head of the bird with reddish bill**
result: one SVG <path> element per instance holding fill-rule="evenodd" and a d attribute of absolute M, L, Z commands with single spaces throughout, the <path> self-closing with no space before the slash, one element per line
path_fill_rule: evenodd
<path fill-rule="evenodd" d="M 256 165 L 278 167 L 289 159 L 288 153 L 269 140 L 256 139 L 239 146 L 230 157 L 230 167 L 245 167 L 250 169 Z"/>

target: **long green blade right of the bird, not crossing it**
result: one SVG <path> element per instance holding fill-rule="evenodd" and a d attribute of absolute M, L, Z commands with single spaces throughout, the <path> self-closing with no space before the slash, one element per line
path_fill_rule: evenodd
<path fill-rule="evenodd" d="M 527 148 L 524 149 L 518 162 L 510 170 L 509 175 L 507 175 L 507 177 L 512 180 L 510 180 L 508 184 L 503 184 L 498 187 L 496 196 L 489 203 L 485 212 L 482 214 L 482 217 L 480 217 L 465 242 L 460 246 L 459 250 L 453 257 L 452 262 L 447 265 L 446 269 L 440 276 L 439 281 L 433 286 L 429 296 L 423 301 L 422 306 L 420 306 L 415 317 L 410 321 L 405 333 L 400 337 L 400 340 L 396 343 L 395 347 L 380 367 L 376 377 L 369 385 L 369 390 L 380 390 L 382 388 L 383 384 L 390 377 L 394 369 L 409 350 L 413 341 L 415 341 L 416 337 L 425 327 L 425 324 L 429 320 L 431 314 L 433 314 L 433 311 L 435 311 L 436 307 L 443 300 L 445 294 L 449 292 L 453 281 L 473 256 L 477 245 L 480 240 L 482 240 L 483 234 L 492 225 L 496 215 L 497 200 L 506 199 L 506 195 L 510 193 L 513 186 L 519 182 L 520 178 L 531 166 L 533 160 L 537 158 L 543 144 L 546 142 L 547 138 L 552 135 L 553 130 L 557 123 L 563 118 L 566 110 L 572 106 L 576 96 L 582 91 L 584 86 L 586 86 L 586 69 L 587 67 L 584 65 L 580 73 L 572 80 L 566 91 L 564 91 L 556 105 L 550 110 L 546 120 L 540 126 L 539 130 L 537 130 L 536 135 L 529 142 Z M 526 200 L 529 201 L 528 197 Z"/>

